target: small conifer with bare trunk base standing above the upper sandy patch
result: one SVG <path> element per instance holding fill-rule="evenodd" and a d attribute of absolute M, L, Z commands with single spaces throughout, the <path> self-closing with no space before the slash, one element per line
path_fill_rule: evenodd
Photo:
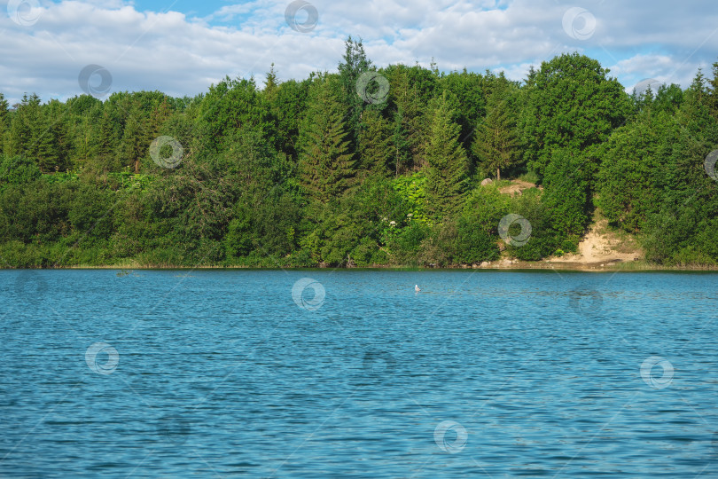
<path fill-rule="evenodd" d="M 472 151 L 482 169 L 496 170 L 497 180 L 501 179 L 501 169 L 519 159 L 519 137 L 515 127 L 507 103 L 495 99 L 476 130 Z"/>

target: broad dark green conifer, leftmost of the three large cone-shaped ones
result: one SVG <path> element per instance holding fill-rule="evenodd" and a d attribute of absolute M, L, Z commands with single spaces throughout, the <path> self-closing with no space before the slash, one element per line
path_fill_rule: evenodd
<path fill-rule="evenodd" d="M 321 204 L 338 198 L 356 174 L 344 124 L 346 108 L 332 86 L 328 80 L 316 85 L 300 130 L 300 184 L 310 200 Z"/>

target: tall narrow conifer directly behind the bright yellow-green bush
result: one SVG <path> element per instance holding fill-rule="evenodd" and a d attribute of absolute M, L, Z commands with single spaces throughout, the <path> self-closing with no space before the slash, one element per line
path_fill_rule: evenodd
<path fill-rule="evenodd" d="M 468 158 L 459 143 L 457 112 L 450 106 L 446 91 L 438 98 L 425 153 L 427 210 L 435 219 L 454 216 L 468 189 Z"/>

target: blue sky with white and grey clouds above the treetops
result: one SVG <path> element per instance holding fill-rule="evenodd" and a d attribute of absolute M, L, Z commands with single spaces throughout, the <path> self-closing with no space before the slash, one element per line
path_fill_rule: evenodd
<path fill-rule="evenodd" d="M 0 92 L 43 101 L 90 92 L 194 96 L 270 65 L 280 81 L 336 71 L 348 35 L 378 67 L 503 71 L 513 80 L 563 52 L 609 68 L 627 91 L 690 85 L 718 61 L 706 0 L 0 0 Z"/>

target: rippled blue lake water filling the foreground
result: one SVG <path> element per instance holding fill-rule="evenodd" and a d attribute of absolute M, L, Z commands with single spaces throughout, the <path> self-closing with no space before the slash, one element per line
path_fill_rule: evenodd
<path fill-rule="evenodd" d="M 716 477 L 716 286 L 0 271 L 0 476 Z"/>

